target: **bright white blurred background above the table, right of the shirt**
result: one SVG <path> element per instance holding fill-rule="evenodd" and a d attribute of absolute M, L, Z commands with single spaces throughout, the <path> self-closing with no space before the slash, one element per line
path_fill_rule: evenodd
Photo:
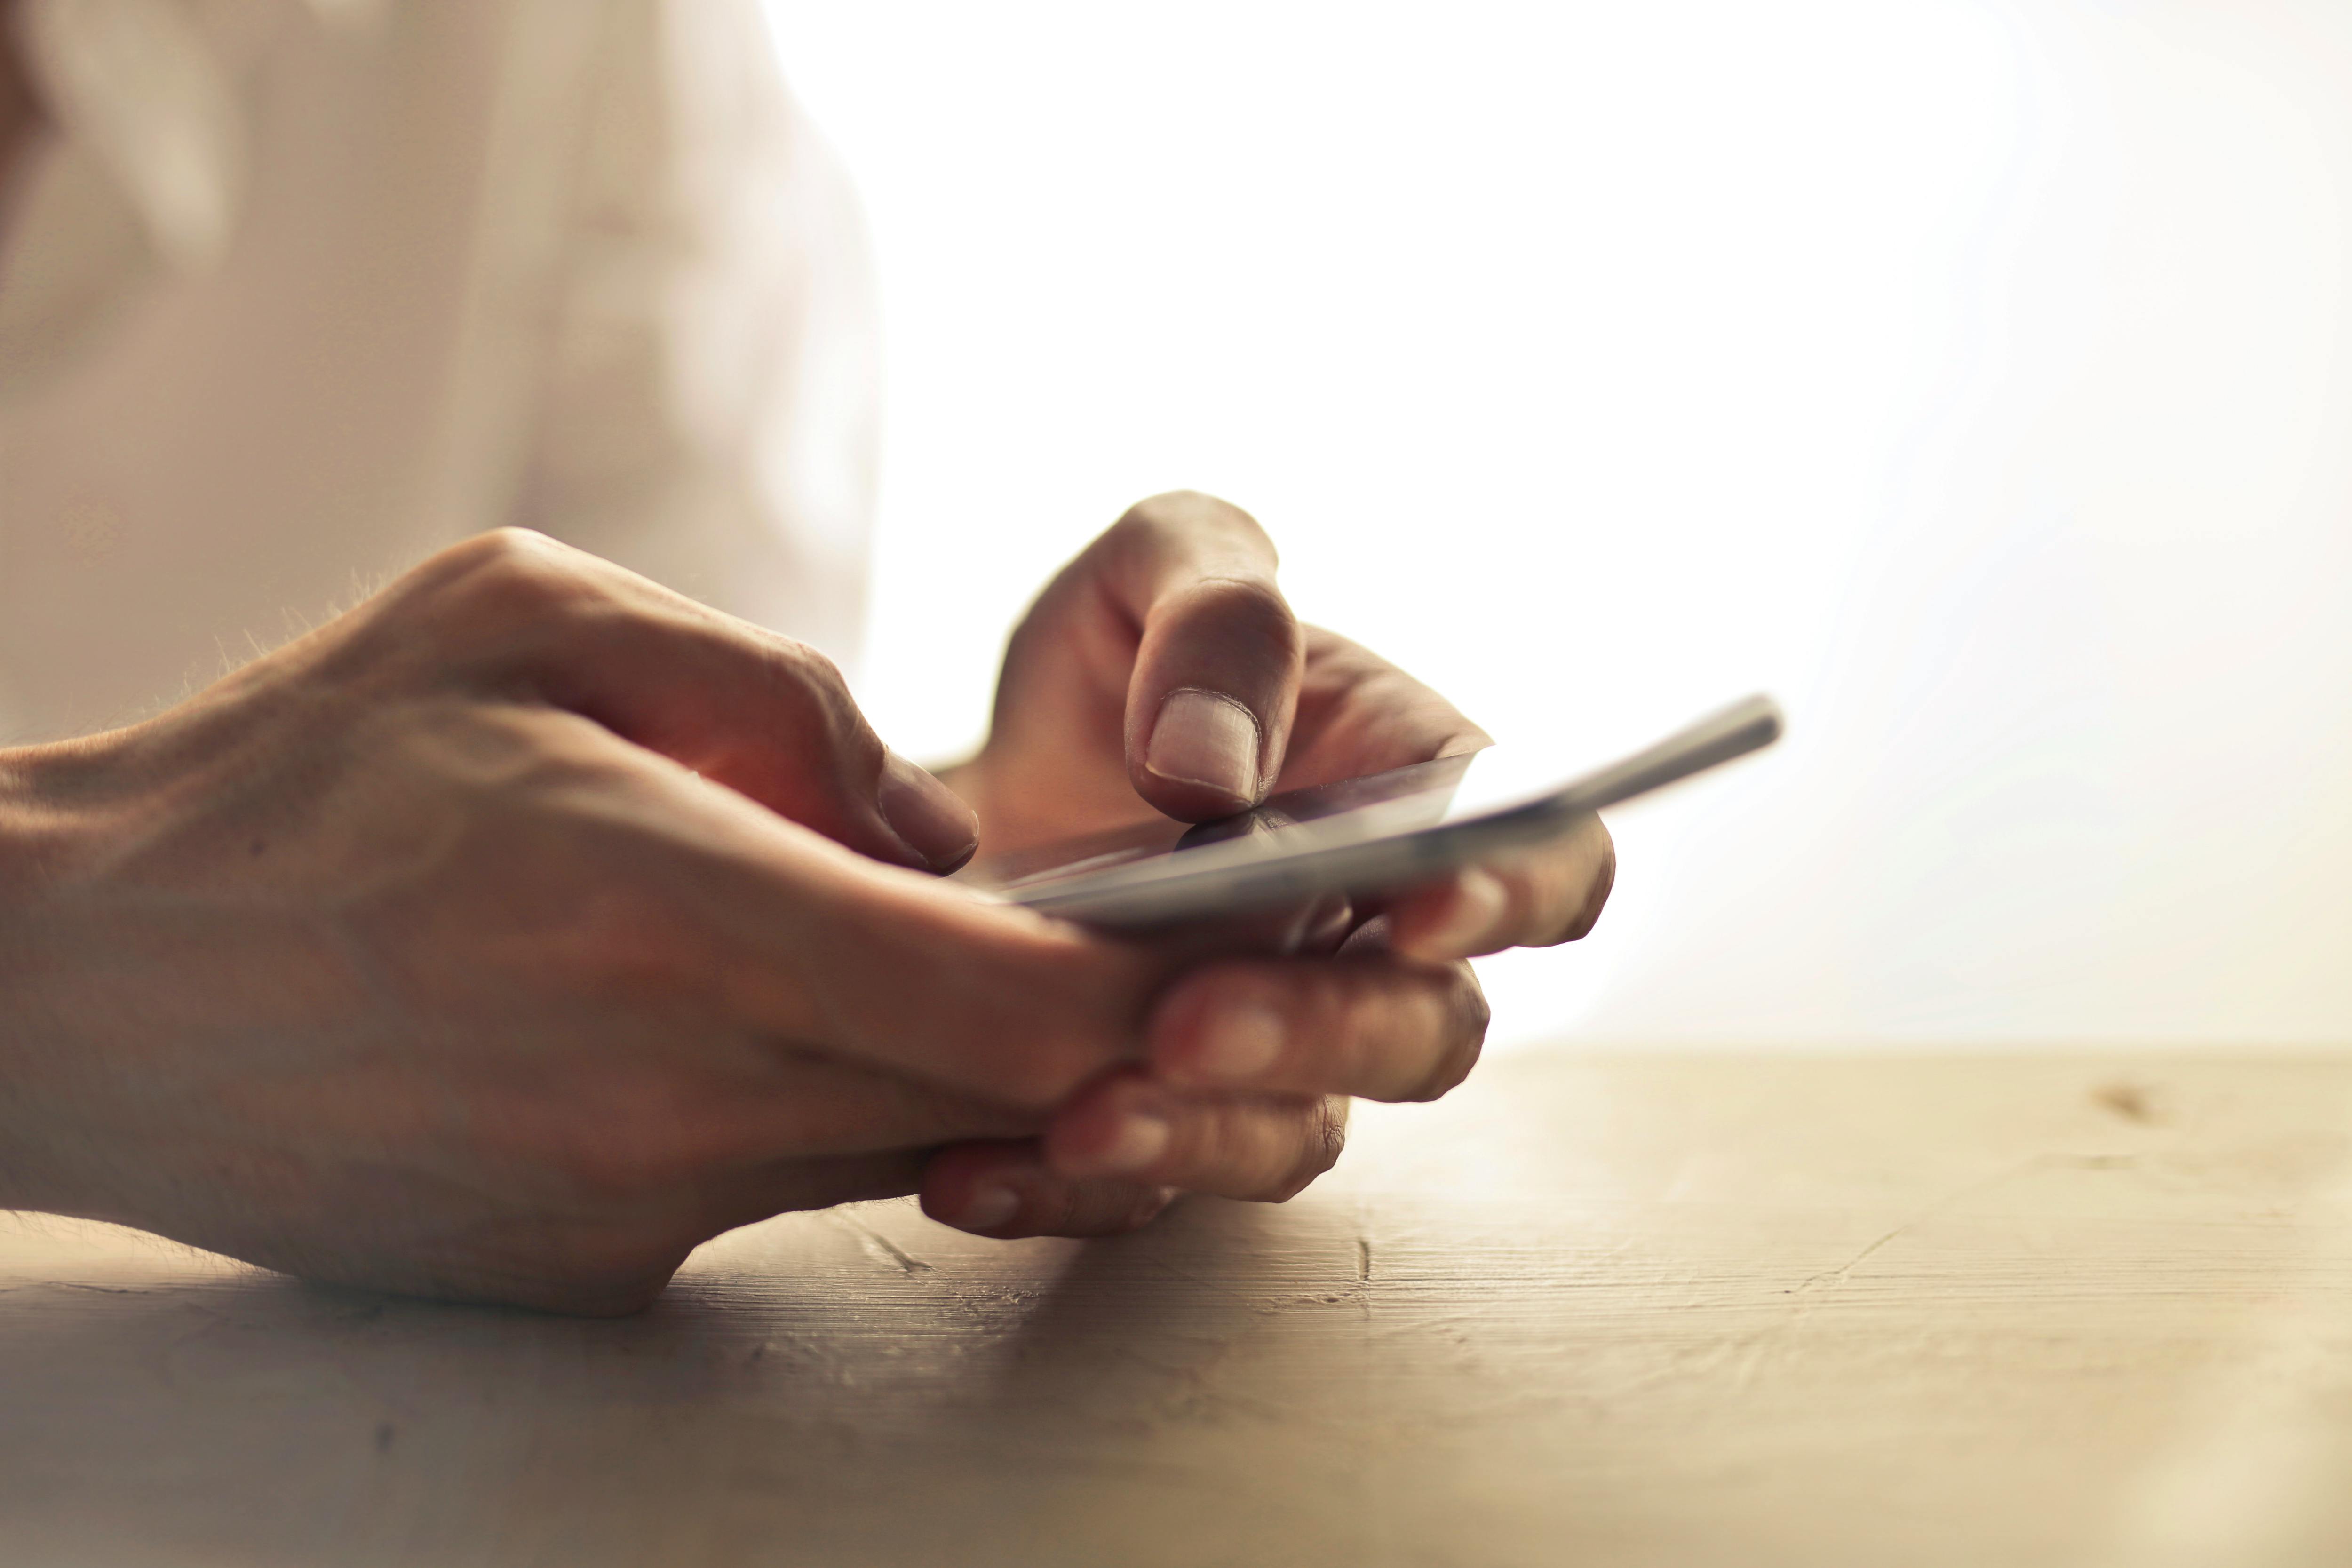
<path fill-rule="evenodd" d="M 1484 966 L 1503 1044 L 2352 1041 L 2352 7 L 769 9 L 880 261 L 901 750 L 1211 489 L 1505 741 L 1788 705 Z"/>

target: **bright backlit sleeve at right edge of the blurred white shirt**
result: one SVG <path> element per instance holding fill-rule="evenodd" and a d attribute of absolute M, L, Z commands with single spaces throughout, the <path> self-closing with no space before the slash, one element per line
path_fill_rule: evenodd
<path fill-rule="evenodd" d="M 614 0 L 515 522 L 849 663 L 877 350 L 863 216 L 755 0 Z"/>

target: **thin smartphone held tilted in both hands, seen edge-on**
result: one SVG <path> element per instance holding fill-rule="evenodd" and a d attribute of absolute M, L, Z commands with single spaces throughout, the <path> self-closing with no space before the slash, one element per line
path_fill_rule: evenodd
<path fill-rule="evenodd" d="M 1432 882 L 1508 860 L 1578 820 L 1780 738 L 1780 708 L 1750 696 L 1597 769 L 1548 771 L 1486 748 L 1272 795 L 1216 823 L 1152 820 L 1014 856 L 960 882 L 1087 926 L 1148 931 Z"/>

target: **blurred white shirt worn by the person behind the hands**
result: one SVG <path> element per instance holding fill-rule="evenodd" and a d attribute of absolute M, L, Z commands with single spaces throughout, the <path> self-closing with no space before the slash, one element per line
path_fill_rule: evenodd
<path fill-rule="evenodd" d="M 0 741 L 546 529 L 854 651 L 863 228 L 755 0 L 26 0 Z"/>

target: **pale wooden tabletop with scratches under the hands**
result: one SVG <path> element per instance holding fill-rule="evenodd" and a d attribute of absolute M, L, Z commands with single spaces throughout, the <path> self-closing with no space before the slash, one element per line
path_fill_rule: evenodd
<path fill-rule="evenodd" d="M 633 1321 L 0 1220 L 0 1561 L 2345 1563 L 2352 1058 L 1571 1058 Z"/>

